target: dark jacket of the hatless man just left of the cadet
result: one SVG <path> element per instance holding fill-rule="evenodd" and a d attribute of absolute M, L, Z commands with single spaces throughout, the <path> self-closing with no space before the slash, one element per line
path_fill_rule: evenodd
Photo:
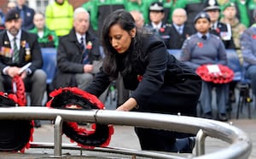
<path fill-rule="evenodd" d="M 187 25 L 184 25 L 183 27 L 183 34 L 180 35 L 175 26 L 171 25 L 170 26 L 171 30 L 170 30 L 170 40 L 168 42 L 168 44 L 166 45 L 166 47 L 168 49 L 180 49 L 183 46 L 183 42 L 187 37 L 190 37 L 192 34 L 195 33 L 194 28 L 191 28 Z"/>

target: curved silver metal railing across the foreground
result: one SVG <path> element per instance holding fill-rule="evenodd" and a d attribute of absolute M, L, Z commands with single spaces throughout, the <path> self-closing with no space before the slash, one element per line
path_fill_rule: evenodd
<path fill-rule="evenodd" d="M 34 147 L 54 148 L 54 156 L 61 157 L 61 149 L 80 149 L 74 145 L 61 144 L 62 122 L 97 122 L 103 124 L 137 126 L 142 128 L 155 128 L 172 130 L 183 133 L 196 134 L 194 158 L 248 158 L 252 151 L 252 141 L 247 133 L 225 122 L 202 119 L 190 116 L 172 116 L 130 111 L 108 110 L 60 110 L 46 107 L 11 107 L 0 108 L 0 120 L 55 120 L 55 143 L 32 143 Z M 230 146 L 205 154 L 205 139 L 210 136 L 229 143 Z M 126 155 L 150 156 L 154 158 L 182 158 L 163 153 L 144 150 L 127 150 L 113 148 L 95 148 L 98 151 L 121 153 Z"/>

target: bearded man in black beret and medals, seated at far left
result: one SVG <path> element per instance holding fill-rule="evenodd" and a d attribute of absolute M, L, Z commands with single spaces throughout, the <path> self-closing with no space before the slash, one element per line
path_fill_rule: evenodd
<path fill-rule="evenodd" d="M 11 81 L 20 76 L 26 87 L 31 89 L 31 105 L 42 105 L 46 88 L 46 74 L 40 68 L 43 58 L 38 44 L 38 37 L 21 28 L 20 13 L 16 9 L 10 10 L 5 16 L 6 30 L 0 33 L 0 91 L 11 89 Z M 25 71 L 20 68 L 31 62 Z M 38 125 L 37 125 L 38 124 Z M 40 123 L 36 123 L 40 126 Z"/>

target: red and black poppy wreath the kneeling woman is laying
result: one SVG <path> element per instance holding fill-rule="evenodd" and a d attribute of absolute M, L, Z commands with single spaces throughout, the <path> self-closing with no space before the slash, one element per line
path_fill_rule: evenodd
<path fill-rule="evenodd" d="M 105 109 L 102 102 L 95 95 L 89 94 L 79 88 L 59 88 L 49 94 L 52 98 L 47 102 L 48 107 L 70 110 Z M 81 126 L 80 126 L 81 125 Z M 79 146 L 93 149 L 96 146 L 108 146 L 113 126 L 100 123 L 90 124 L 91 128 L 84 127 L 84 123 L 63 122 L 62 132 L 75 141 Z"/>

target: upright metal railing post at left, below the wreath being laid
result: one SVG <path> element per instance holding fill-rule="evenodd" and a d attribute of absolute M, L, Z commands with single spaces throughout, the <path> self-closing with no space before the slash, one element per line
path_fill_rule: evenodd
<path fill-rule="evenodd" d="M 56 118 L 55 118 L 55 155 L 54 155 L 54 157 L 61 157 L 62 122 L 63 122 L 62 117 L 56 116 Z"/>

